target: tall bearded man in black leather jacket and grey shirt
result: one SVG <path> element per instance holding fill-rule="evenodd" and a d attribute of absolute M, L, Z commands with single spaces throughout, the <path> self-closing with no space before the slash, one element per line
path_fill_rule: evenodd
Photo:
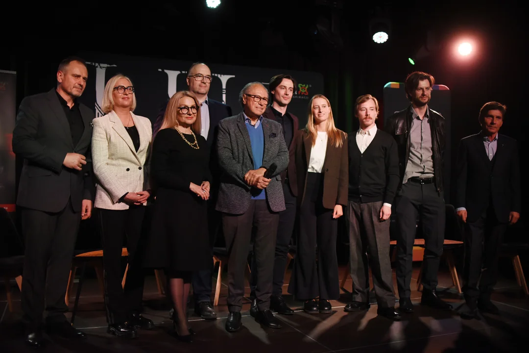
<path fill-rule="evenodd" d="M 393 114 L 386 126 L 397 142 L 399 156 L 400 183 L 394 202 L 399 230 L 396 275 L 399 309 L 404 313 L 413 312 L 409 284 L 418 220 L 425 243 L 421 304 L 452 309 L 436 294 L 445 227 L 442 177 L 445 132 L 444 117 L 428 107 L 434 82 L 433 76 L 426 73 L 409 74 L 404 87 L 411 104 Z"/>

